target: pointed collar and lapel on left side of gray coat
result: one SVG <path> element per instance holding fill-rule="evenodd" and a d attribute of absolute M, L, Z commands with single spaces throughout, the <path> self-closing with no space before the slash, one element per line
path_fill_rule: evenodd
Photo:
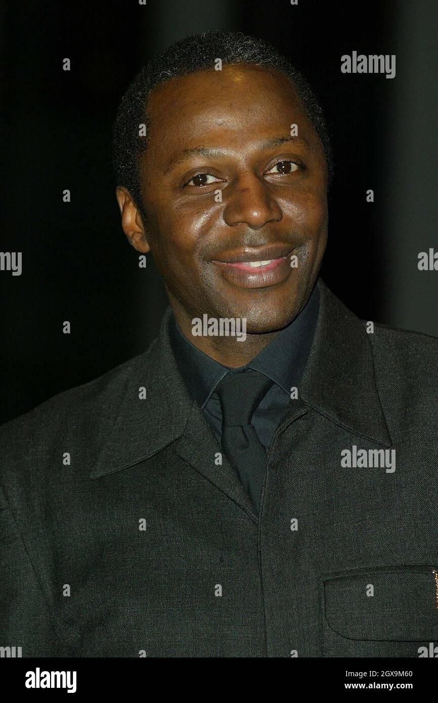
<path fill-rule="evenodd" d="M 123 470 L 175 442 L 180 458 L 257 520 L 236 472 L 224 454 L 219 459 L 217 438 L 183 382 L 169 338 L 170 314 L 167 309 L 160 335 L 148 352 L 122 365 L 120 374 L 105 388 L 108 397 L 101 400 L 103 411 L 113 407 L 119 394 L 122 401 L 112 423 L 101 418 L 108 430 L 89 476 L 98 479 Z M 145 399 L 139 398 L 142 388 L 146 389 Z"/>

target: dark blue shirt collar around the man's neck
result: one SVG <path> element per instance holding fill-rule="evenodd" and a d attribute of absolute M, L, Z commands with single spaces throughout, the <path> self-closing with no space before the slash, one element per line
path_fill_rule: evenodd
<path fill-rule="evenodd" d="M 287 327 L 281 330 L 252 361 L 241 368 L 223 366 L 201 352 L 183 335 L 174 315 L 169 318 L 172 349 L 186 385 L 201 409 L 210 400 L 219 381 L 227 373 L 238 373 L 247 368 L 259 371 L 280 386 L 285 393 L 304 373 L 318 319 L 319 291 L 315 286 L 307 304 Z"/>

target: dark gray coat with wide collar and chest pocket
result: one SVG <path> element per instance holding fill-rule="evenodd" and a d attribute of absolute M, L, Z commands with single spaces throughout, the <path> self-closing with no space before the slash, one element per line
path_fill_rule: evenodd
<path fill-rule="evenodd" d="M 147 352 L 1 428 L 0 646 L 418 657 L 438 645 L 437 340 L 367 333 L 318 285 L 259 519 L 183 384 L 169 311 Z M 394 449 L 395 470 L 342 466 L 354 446 L 368 463 Z"/>

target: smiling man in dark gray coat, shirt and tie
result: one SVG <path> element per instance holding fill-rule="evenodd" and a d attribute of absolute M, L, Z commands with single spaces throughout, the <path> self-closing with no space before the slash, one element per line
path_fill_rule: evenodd
<path fill-rule="evenodd" d="M 418 657 L 438 641 L 437 340 L 318 279 L 330 143 L 272 47 L 143 68 L 117 201 L 170 307 L 150 349 L 4 426 L 2 645 Z"/>

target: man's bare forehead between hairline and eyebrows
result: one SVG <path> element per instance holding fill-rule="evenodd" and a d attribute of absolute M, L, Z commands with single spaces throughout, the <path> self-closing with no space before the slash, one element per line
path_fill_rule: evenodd
<path fill-rule="evenodd" d="M 215 75 L 221 72 L 198 72 L 172 79 L 151 96 L 148 115 L 155 147 L 182 155 L 198 146 L 221 148 L 243 138 L 262 143 L 290 135 L 292 122 L 299 123 L 303 141 L 311 141 L 311 125 L 287 77 L 257 66 L 227 68 L 225 79 Z M 250 82 L 243 90 L 235 78 L 248 74 Z"/>

